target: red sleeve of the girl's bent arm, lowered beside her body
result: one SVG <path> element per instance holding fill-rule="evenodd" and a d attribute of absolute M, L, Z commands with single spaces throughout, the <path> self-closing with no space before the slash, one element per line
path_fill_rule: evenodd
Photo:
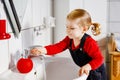
<path fill-rule="evenodd" d="M 104 61 L 104 57 L 98 47 L 97 42 L 90 37 L 87 38 L 84 49 L 88 53 L 88 55 L 92 57 L 92 60 L 89 62 L 92 70 L 100 67 Z"/>

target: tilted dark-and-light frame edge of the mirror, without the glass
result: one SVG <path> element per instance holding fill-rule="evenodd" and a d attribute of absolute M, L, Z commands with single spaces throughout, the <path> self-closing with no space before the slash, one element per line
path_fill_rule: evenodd
<path fill-rule="evenodd" d="M 5 10 L 7 19 L 9 21 L 12 31 L 14 33 L 14 36 L 18 37 L 18 35 L 21 31 L 21 24 L 19 22 L 13 0 L 2 0 L 2 3 L 4 6 L 4 10 Z"/>

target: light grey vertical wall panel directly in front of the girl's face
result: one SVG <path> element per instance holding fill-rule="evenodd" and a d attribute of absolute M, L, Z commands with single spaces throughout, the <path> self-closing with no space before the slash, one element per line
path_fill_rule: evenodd
<path fill-rule="evenodd" d="M 69 12 L 69 0 L 54 0 L 54 16 L 56 18 L 56 27 L 54 28 L 54 42 L 65 37 L 65 19 Z"/>

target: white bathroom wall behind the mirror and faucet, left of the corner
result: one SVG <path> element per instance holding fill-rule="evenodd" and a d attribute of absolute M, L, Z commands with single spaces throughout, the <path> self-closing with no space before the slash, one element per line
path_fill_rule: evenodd
<path fill-rule="evenodd" d="M 13 1 L 17 2 L 17 0 Z M 22 9 L 20 9 L 23 6 L 21 6 L 19 1 L 27 2 L 24 15 L 22 14 Z M 7 32 L 11 35 L 9 40 L 0 40 L 0 73 L 14 66 L 21 53 L 24 53 L 24 49 L 33 45 L 44 46 L 52 43 L 52 28 L 49 28 L 44 23 L 45 18 L 52 16 L 52 0 L 19 1 L 16 4 L 22 31 L 18 38 L 14 37 L 6 19 L 3 5 L 0 2 L 0 19 L 6 19 Z"/>

